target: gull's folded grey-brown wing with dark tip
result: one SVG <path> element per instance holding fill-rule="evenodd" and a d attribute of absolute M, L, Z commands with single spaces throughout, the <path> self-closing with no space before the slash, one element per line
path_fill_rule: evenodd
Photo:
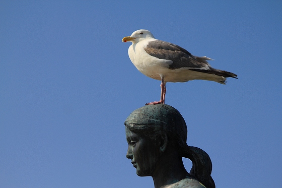
<path fill-rule="evenodd" d="M 237 76 L 233 73 L 210 67 L 206 61 L 210 60 L 210 58 L 194 56 L 186 49 L 170 42 L 162 40 L 151 41 L 148 43 L 145 51 L 154 57 L 171 60 L 173 63 L 169 66 L 169 69 L 188 68 L 191 71 L 215 74 L 223 77 L 236 78 Z"/>

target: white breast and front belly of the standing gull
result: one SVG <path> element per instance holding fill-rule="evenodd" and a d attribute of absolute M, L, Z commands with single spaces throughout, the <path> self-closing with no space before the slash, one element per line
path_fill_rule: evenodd
<path fill-rule="evenodd" d="M 144 50 L 148 43 L 153 40 L 156 39 L 143 40 L 130 45 L 128 55 L 138 71 L 150 78 L 161 80 L 161 76 L 168 71 L 172 61 L 151 56 Z"/>

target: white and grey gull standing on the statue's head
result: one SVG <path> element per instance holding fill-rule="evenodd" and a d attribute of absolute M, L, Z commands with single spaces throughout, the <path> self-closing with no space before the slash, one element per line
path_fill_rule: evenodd
<path fill-rule="evenodd" d="M 187 82 L 190 80 L 208 80 L 226 84 L 226 78 L 237 79 L 231 72 L 212 68 L 206 56 L 195 56 L 186 49 L 162 40 L 146 30 L 139 29 L 130 36 L 123 37 L 122 42 L 132 42 L 128 55 L 133 65 L 144 75 L 161 81 L 161 99 L 146 103 L 165 103 L 167 82 Z"/>

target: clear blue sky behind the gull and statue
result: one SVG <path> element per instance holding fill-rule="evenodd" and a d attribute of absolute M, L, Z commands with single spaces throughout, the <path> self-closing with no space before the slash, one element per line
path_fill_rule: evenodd
<path fill-rule="evenodd" d="M 124 120 L 160 99 L 122 43 L 137 29 L 233 72 L 167 83 L 217 187 L 282 187 L 281 1 L 0 1 L 0 187 L 154 187 Z M 184 160 L 189 171 L 191 162 Z"/>

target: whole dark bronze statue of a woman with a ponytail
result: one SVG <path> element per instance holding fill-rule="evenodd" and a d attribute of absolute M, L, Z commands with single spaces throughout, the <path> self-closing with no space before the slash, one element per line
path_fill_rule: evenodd
<path fill-rule="evenodd" d="M 126 157 L 138 176 L 152 176 L 155 188 L 215 188 L 212 161 L 203 150 L 188 146 L 182 115 L 166 104 L 134 110 L 125 120 Z M 188 173 L 182 157 L 192 161 Z"/>

